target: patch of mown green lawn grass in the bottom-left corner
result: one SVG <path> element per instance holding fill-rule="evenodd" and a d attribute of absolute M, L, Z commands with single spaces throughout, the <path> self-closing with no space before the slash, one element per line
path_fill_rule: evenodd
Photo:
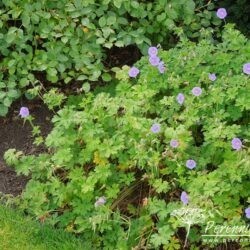
<path fill-rule="evenodd" d="M 84 243 L 63 230 L 41 225 L 19 210 L 0 205 L 0 248 L 3 250 L 79 250 Z"/>

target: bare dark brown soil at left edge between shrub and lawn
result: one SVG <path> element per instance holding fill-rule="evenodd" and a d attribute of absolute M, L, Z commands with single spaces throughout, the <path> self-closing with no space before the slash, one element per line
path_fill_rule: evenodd
<path fill-rule="evenodd" d="M 35 118 L 33 123 L 41 127 L 43 135 L 51 130 L 50 119 L 52 113 L 40 101 L 19 100 L 13 104 L 7 117 L 0 117 L 0 192 L 18 195 L 25 187 L 28 178 L 17 176 L 14 169 L 6 166 L 3 155 L 10 148 L 22 150 L 30 154 L 41 151 L 35 147 L 32 139 L 32 128 L 28 122 L 24 123 L 18 115 L 21 106 L 26 106 Z"/>

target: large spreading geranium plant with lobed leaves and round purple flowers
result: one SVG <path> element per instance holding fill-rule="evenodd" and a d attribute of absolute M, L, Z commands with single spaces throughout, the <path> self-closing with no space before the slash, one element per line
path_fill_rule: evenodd
<path fill-rule="evenodd" d="M 117 72 L 122 80 L 114 93 L 88 93 L 66 105 L 53 118 L 47 153 L 5 155 L 18 173 L 32 177 L 23 208 L 83 233 L 100 249 L 182 249 L 177 236 L 185 225 L 171 216 L 180 208 L 212 211 L 217 224 L 244 224 L 250 78 L 242 69 L 249 55 L 249 40 L 230 25 L 218 45 L 183 37 L 159 52 L 164 73 L 143 57 L 136 78 L 126 67 Z M 180 93 L 185 100 L 178 103 Z M 231 145 L 237 137 L 243 146 Z M 205 224 L 193 224 L 190 244 L 205 244 Z"/>

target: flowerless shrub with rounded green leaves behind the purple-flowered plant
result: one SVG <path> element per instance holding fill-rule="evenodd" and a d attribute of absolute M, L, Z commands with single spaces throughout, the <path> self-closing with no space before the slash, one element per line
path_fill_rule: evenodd
<path fill-rule="evenodd" d="M 190 37 L 219 25 L 214 4 L 193 0 L 3 0 L 0 3 L 0 115 L 20 90 L 40 81 L 110 81 L 105 48 L 176 43 L 174 30 Z M 195 9 L 197 7 L 197 9 Z M 171 36 L 172 34 L 172 36 Z M 101 74 L 103 73 L 103 74 Z"/>

